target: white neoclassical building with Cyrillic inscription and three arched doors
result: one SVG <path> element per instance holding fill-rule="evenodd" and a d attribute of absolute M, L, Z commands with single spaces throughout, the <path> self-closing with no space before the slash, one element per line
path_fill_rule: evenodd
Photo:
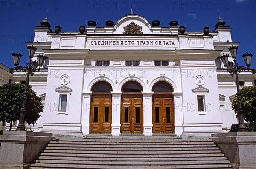
<path fill-rule="evenodd" d="M 34 41 L 27 43 L 49 58 L 45 69 L 30 77 L 44 103 L 31 128 L 74 137 L 201 137 L 228 131 L 237 123 L 231 109 L 235 77 L 218 57 L 239 42 L 232 41 L 223 20 L 215 27 L 209 34 L 183 33 L 177 26 L 152 26 L 144 17 L 127 15 L 113 26 L 88 26 L 84 34 L 55 34 L 47 20 L 41 21 Z M 7 75 L 11 83 L 25 80 L 21 72 Z M 240 86 L 255 85 L 255 79 L 255 72 L 242 72 Z"/>

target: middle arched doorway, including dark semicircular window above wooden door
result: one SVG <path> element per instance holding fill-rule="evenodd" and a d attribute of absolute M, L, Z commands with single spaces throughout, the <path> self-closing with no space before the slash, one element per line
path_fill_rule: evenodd
<path fill-rule="evenodd" d="M 125 83 L 121 90 L 121 132 L 143 133 L 142 86 L 130 81 Z"/>

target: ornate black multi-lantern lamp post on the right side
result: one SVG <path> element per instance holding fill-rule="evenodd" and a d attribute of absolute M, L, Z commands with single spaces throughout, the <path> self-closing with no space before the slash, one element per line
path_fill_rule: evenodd
<path fill-rule="evenodd" d="M 253 54 L 249 54 L 248 52 L 246 52 L 245 54 L 242 55 L 242 57 L 244 57 L 244 62 L 246 64 L 247 67 L 244 66 L 239 66 L 238 63 L 236 63 L 236 52 L 237 52 L 237 48 L 238 46 L 233 46 L 230 47 L 228 50 L 231 53 L 231 56 L 233 58 L 233 62 L 228 61 L 228 54 L 223 54 L 223 56 L 220 56 L 222 62 L 224 63 L 224 66 L 227 67 L 227 71 L 230 72 L 230 75 L 233 77 L 234 74 L 236 75 L 236 89 L 237 89 L 237 100 L 238 100 L 238 110 L 237 110 L 237 114 L 238 114 L 238 123 L 239 123 L 239 127 L 238 127 L 238 131 L 239 132 L 244 132 L 246 131 L 246 127 L 244 125 L 244 110 L 242 108 L 242 103 L 241 103 L 241 93 L 240 93 L 240 89 L 239 89 L 239 79 L 238 79 L 238 74 L 240 72 L 248 72 L 250 70 L 250 64 L 251 64 L 251 60 L 252 60 L 252 56 Z"/>

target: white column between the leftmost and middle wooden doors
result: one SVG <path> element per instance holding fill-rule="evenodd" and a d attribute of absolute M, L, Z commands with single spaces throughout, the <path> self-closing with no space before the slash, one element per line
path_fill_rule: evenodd
<path fill-rule="evenodd" d="M 122 92 L 110 92 L 112 94 L 112 135 L 121 134 L 121 95 Z"/>

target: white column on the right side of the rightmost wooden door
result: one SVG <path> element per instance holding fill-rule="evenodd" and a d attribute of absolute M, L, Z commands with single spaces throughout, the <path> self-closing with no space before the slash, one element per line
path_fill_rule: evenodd
<path fill-rule="evenodd" d="M 175 134 L 180 136 L 183 132 L 182 92 L 173 92 L 174 97 L 174 128 Z"/>

